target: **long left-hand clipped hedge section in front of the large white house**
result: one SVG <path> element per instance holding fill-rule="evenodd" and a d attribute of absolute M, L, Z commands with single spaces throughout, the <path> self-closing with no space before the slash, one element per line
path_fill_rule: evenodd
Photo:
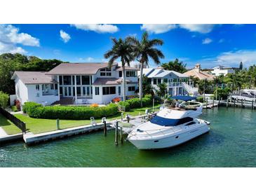
<path fill-rule="evenodd" d="M 46 106 L 34 102 L 26 102 L 23 111 L 32 118 L 51 119 L 90 119 L 113 116 L 117 114 L 116 104 L 108 104 L 106 107 L 83 107 L 83 106 Z"/>

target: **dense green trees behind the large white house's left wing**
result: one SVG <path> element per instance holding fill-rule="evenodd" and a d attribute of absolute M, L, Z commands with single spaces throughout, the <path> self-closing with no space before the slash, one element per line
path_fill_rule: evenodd
<path fill-rule="evenodd" d="M 4 53 L 0 55 L 0 90 L 15 94 L 14 83 L 11 80 L 14 71 L 49 71 L 60 63 L 60 60 L 42 60 L 19 53 Z"/>

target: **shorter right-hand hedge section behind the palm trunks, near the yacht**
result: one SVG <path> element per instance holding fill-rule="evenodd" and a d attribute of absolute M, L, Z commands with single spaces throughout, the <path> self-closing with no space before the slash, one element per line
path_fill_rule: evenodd
<path fill-rule="evenodd" d="M 142 106 L 147 107 L 152 104 L 152 97 L 148 95 L 145 95 L 145 97 L 142 98 Z M 129 111 L 130 109 L 134 108 L 140 108 L 140 99 L 134 98 L 130 100 L 126 100 L 126 102 L 119 102 L 119 105 L 126 108 L 126 111 Z"/>

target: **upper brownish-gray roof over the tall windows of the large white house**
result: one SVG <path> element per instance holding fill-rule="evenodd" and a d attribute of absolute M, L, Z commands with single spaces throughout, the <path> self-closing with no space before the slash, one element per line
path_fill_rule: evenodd
<path fill-rule="evenodd" d="M 99 69 L 108 67 L 107 62 L 62 63 L 47 72 L 48 75 L 93 75 Z M 117 65 L 114 62 L 113 65 Z"/>

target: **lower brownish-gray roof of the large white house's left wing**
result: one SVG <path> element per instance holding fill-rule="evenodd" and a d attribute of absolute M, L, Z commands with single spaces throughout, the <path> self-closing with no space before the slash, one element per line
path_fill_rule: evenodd
<path fill-rule="evenodd" d="M 58 83 L 50 76 L 46 75 L 45 71 L 15 71 L 12 79 L 18 76 L 22 83 L 25 84 L 55 84 Z"/>

